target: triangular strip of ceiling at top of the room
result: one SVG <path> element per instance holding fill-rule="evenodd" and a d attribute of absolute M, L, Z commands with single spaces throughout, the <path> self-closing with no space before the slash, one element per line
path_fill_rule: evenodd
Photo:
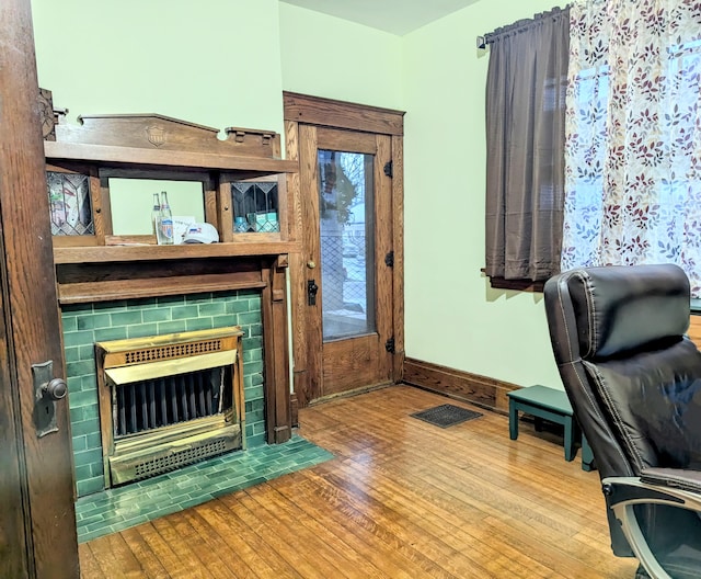
<path fill-rule="evenodd" d="M 402 36 L 479 0 L 281 0 Z"/>

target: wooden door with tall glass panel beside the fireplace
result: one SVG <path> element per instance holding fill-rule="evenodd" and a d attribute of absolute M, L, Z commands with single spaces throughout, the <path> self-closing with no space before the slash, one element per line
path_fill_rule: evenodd
<path fill-rule="evenodd" d="M 308 371 L 321 397 L 392 377 L 387 135 L 300 126 Z"/>

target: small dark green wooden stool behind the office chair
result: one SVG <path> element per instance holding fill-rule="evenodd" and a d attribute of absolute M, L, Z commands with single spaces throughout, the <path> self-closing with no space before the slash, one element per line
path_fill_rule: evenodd
<path fill-rule="evenodd" d="M 564 390 L 547 386 L 528 386 L 512 390 L 508 396 L 508 430 L 512 440 L 518 439 L 518 411 L 531 415 L 538 424 L 539 420 L 550 420 L 564 427 L 565 461 L 573 461 L 576 454 L 574 446 L 578 428 L 572 412 L 572 405 Z M 594 455 L 586 438 L 582 436 L 582 468 L 594 468 Z"/>

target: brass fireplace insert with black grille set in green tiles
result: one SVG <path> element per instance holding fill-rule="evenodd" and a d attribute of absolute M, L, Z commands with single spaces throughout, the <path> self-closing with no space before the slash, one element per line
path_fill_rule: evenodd
<path fill-rule="evenodd" d="M 243 447 L 238 327 L 95 344 L 106 487 Z"/>

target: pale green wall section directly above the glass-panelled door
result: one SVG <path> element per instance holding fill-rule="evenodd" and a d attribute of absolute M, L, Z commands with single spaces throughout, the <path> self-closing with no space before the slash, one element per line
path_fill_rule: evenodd
<path fill-rule="evenodd" d="M 284 2 L 279 14 L 285 90 L 402 107 L 399 36 Z"/>

